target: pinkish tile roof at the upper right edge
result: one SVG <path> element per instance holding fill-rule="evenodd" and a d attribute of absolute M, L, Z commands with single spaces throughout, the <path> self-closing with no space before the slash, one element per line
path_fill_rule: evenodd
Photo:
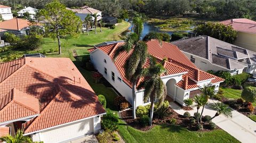
<path fill-rule="evenodd" d="M 250 19 L 229 19 L 220 23 L 231 26 L 236 31 L 256 34 L 256 21 Z"/>

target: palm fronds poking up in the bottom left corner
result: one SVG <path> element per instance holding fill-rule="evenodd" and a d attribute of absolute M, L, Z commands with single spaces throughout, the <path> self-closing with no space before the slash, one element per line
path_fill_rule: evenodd
<path fill-rule="evenodd" d="M 7 143 L 32 143 L 33 141 L 28 136 L 23 136 L 23 131 L 18 130 L 15 136 L 4 136 L 0 138 L 0 141 L 5 141 Z"/>

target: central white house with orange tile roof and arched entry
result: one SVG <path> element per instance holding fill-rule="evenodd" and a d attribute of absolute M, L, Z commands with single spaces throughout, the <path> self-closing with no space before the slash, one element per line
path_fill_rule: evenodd
<path fill-rule="evenodd" d="M 114 62 L 114 53 L 119 46 L 124 43 L 114 43 L 97 48 L 91 48 L 90 58 L 103 77 L 132 104 L 132 83 L 125 78 L 124 64 L 131 53 L 123 52 L 119 54 Z M 161 79 L 167 87 L 167 94 L 183 105 L 183 100 L 193 98 L 198 94 L 199 88 L 212 83 L 214 90 L 219 90 L 220 82 L 223 79 L 206 73 L 196 68 L 196 66 L 182 54 L 177 46 L 158 40 L 147 42 L 148 52 L 154 56 L 158 63 L 164 58 L 168 60 L 163 63 L 167 72 L 161 75 Z M 149 60 L 145 66 L 149 65 Z M 139 79 L 140 82 L 142 79 Z M 150 102 L 143 101 L 143 89 L 136 91 L 136 105 L 146 105 Z"/>

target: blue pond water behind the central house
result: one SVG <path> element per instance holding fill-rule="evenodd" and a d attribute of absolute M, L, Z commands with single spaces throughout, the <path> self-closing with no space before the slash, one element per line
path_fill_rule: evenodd
<path fill-rule="evenodd" d="M 131 26 L 129 27 L 129 30 L 131 30 L 132 29 L 132 22 L 131 21 L 129 21 L 130 23 L 131 23 Z M 184 32 L 189 32 L 189 31 L 191 31 L 191 30 L 188 30 L 188 31 L 184 31 Z M 147 23 L 147 22 L 144 22 L 143 23 L 143 31 L 142 31 L 142 34 L 141 34 L 141 39 L 143 38 L 143 37 L 145 37 L 149 32 L 162 32 L 162 33 L 168 33 L 169 35 L 172 35 L 172 33 L 173 33 L 173 31 L 161 31 L 161 29 L 160 28 L 158 28 L 158 27 L 155 27 L 155 26 L 153 26 L 152 24 L 149 24 L 149 23 Z"/>

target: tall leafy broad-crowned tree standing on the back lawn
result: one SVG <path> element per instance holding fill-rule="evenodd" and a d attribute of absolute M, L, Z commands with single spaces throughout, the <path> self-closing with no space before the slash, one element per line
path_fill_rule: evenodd
<path fill-rule="evenodd" d="M 36 16 L 39 21 L 44 21 L 46 34 L 58 39 L 59 54 L 61 54 L 60 36 L 77 37 L 82 28 L 81 19 L 74 12 L 67 10 L 58 0 L 46 4 Z"/>

